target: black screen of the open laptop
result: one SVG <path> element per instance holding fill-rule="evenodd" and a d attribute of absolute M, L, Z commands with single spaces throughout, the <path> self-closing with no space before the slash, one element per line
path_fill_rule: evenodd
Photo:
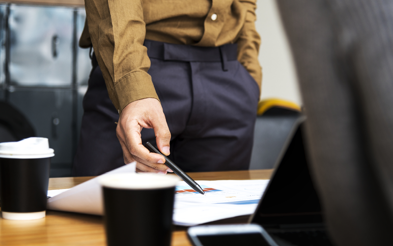
<path fill-rule="evenodd" d="M 298 123 L 287 141 L 286 151 L 252 218 L 262 226 L 322 223 L 321 206 L 309 175 Z M 289 144 L 288 144 L 289 142 Z"/>

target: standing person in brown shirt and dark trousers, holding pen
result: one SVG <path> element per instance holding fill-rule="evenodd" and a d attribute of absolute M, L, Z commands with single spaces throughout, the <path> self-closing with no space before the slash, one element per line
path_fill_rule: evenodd
<path fill-rule="evenodd" d="M 170 172 L 147 141 L 186 172 L 249 168 L 262 79 L 256 0 L 85 8 L 80 46 L 94 54 L 74 176 L 132 161 L 138 172 Z"/>

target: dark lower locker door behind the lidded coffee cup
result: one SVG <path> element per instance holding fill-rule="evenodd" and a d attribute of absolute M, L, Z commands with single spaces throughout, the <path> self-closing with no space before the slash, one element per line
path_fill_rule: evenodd
<path fill-rule="evenodd" d="M 70 89 L 18 89 L 9 95 L 9 102 L 17 107 L 34 126 L 37 136 L 49 139 L 55 150 L 52 163 L 72 161 L 72 91 Z"/>

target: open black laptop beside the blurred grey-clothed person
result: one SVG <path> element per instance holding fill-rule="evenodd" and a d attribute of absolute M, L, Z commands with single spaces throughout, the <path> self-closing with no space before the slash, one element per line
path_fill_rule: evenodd
<path fill-rule="evenodd" d="M 333 246 L 309 174 L 303 125 L 304 118 L 295 123 L 250 222 L 263 226 L 280 246 Z"/>

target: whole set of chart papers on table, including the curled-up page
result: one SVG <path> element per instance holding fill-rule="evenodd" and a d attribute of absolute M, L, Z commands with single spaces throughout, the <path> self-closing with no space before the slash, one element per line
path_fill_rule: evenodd
<path fill-rule="evenodd" d="M 110 173 L 135 172 L 128 164 Z M 106 174 L 103 174 L 106 175 Z M 101 177 L 101 176 L 99 176 Z M 71 189 L 49 190 L 47 208 L 51 210 L 102 215 L 102 191 L 99 177 Z M 251 215 L 269 180 L 197 181 L 205 195 L 185 182 L 176 185 L 173 223 L 197 225 L 240 215 Z"/>

